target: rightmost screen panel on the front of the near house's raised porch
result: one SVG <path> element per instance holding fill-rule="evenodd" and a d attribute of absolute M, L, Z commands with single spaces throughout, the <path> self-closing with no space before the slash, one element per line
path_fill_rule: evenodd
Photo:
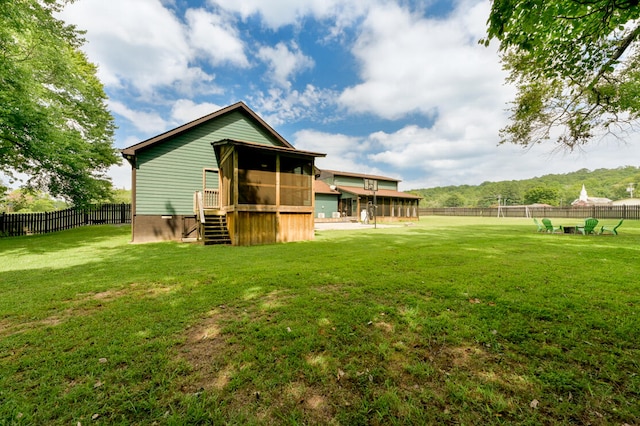
<path fill-rule="evenodd" d="M 280 204 L 311 206 L 312 165 L 301 158 L 280 157 Z"/>

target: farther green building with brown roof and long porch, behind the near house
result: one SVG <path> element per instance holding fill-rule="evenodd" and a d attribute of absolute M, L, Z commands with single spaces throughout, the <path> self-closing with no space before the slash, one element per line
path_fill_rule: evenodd
<path fill-rule="evenodd" d="M 375 212 L 377 217 L 384 219 L 417 219 L 418 203 L 422 197 L 398 191 L 398 179 L 385 176 L 374 176 L 358 173 L 339 172 L 335 170 L 320 170 L 317 180 L 324 182 L 326 190 L 316 193 L 316 217 L 324 215 L 326 218 L 348 217 L 354 220 L 360 218 L 362 210 L 373 216 L 374 192 L 365 189 L 365 181 L 375 181 Z M 337 194 L 336 194 L 337 192 Z M 321 197 L 321 198 L 320 198 Z M 325 208 L 320 211 L 318 204 L 323 200 Z M 327 206 L 336 210 L 329 210 Z"/>

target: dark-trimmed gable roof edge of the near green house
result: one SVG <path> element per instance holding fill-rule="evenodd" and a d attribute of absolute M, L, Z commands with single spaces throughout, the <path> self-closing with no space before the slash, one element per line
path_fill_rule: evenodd
<path fill-rule="evenodd" d="M 197 120 L 190 121 L 189 123 L 183 124 L 182 126 L 176 127 L 175 129 L 168 130 L 158 136 L 154 136 L 145 141 L 139 142 L 135 145 L 131 145 L 130 147 L 121 149 L 120 152 L 122 155 L 126 157 L 131 157 L 136 155 L 136 151 L 139 151 L 144 148 L 148 148 L 155 144 L 161 143 L 171 137 L 184 133 L 188 130 L 193 129 L 194 127 L 200 126 L 201 124 L 207 123 L 211 120 L 214 120 L 218 117 L 221 117 L 225 114 L 229 114 L 231 112 L 241 112 L 245 116 L 247 116 L 250 120 L 253 120 L 259 126 L 263 127 L 267 132 L 269 132 L 275 139 L 282 143 L 282 145 L 286 148 L 293 148 L 285 138 L 283 138 L 278 132 L 276 132 L 271 126 L 269 126 L 266 121 L 264 121 L 258 114 L 253 112 L 251 108 L 249 108 L 244 102 L 236 102 L 233 105 L 229 105 L 228 107 L 222 108 L 218 111 L 212 112 L 211 114 L 205 115 L 204 117 L 200 117 Z"/>

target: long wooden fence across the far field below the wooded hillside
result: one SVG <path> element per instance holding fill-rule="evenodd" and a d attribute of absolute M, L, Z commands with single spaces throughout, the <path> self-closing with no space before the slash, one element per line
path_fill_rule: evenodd
<path fill-rule="evenodd" d="M 537 217 L 585 219 L 640 219 L 640 206 L 420 208 L 420 216 Z"/>

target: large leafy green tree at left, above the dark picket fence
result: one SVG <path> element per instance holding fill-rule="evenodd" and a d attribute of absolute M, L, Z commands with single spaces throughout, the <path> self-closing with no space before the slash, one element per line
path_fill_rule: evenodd
<path fill-rule="evenodd" d="M 0 172 L 76 205 L 111 190 L 114 121 L 64 0 L 0 0 Z"/>

